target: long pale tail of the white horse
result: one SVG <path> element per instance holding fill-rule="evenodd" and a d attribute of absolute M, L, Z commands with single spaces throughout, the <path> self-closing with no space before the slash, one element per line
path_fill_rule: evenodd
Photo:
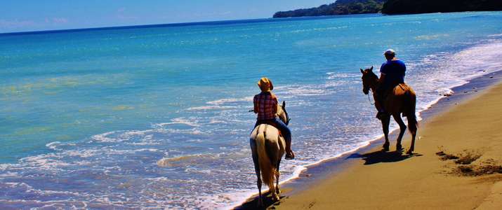
<path fill-rule="evenodd" d="M 258 165 L 260 166 L 261 177 L 263 182 L 273 190 L 274 188 L 274 179 L 277 174 L 277 169 L 272 162 L 270 162 L 270 158 L 267 155 L 267 150 L 265 148 L 265 134 L 264 132 L 260 132 L 256 136 L 256 151 L 258 151 Z"/>

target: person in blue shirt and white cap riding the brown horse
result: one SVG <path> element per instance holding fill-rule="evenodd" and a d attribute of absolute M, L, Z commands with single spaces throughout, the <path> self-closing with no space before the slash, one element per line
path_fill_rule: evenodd
<path fill-rule="evenodd" d="M 383 100 L 385 99 L 389 90 L 392 90 L 399 83 L 404 83 L 404 76 L 406 75 L 406 65 L 401 60 L 397 59 L 395 50 L 388 49 L 383 53 L 387 62 L 384 62 L 380 67 L 380 87 L 376 93 L 378 94 L 378 99 L 375 102 L 376 109 L 378 109 L 378 114 L 376 118 L 381 118 L 385 114 L 385 109 L 383 109 Z"/>

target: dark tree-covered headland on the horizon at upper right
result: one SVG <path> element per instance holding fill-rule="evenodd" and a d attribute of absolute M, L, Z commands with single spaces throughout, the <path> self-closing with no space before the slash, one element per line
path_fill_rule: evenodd
<path fill-rule="evenodd" d="M 338 0 L 315 8 L 280 11 L 273 18 L 365 13 L 416 14 L 502 10 L 501 0 Z"/>

